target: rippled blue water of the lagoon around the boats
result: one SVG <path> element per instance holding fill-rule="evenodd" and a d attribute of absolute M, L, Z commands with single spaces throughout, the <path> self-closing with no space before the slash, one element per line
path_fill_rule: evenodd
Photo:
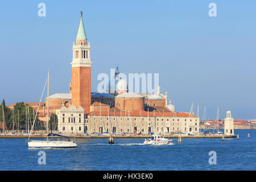
<path fill-rule="evenodd" d="M 173 139 L 174 145 L 146 146 L 144 139 L 77 139 L 77 148 L 28 149 L 26 139 L 0 139 L 0 170 L 256 170 L 256 130 L 235 130 L 240 140 Z M 250 139 L 247 134 L 250 133 Z M 46 165 L 38 164 L 39 151 Z M 209 151 L 217 164 L 210 165 Z"/>

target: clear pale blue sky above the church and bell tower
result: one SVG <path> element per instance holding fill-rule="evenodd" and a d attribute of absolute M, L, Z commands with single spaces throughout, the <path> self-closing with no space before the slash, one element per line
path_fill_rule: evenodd
<path fill-rule="evenodd" d="M 45 3 L 46 16 L 38 16 Z M 216 15 L 210 17 L 210 3 Z M 83 11 L 92 92 L 100 73 L 159 73 L 176 111 L 256 119 L 256 1 L 1 1 L 0 101 L 68 93 L 72 45 Z M 44 96 L 45 99 L 46 96 Z"/>

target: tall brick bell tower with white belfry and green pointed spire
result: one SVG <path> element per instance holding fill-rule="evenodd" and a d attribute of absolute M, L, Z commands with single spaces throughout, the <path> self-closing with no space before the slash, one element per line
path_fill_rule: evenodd
<path fill-rule="evenodd" d="M 76 107 L 81 106 L 85 113 L 89 113 L 91 104 L 91 85 L 90 85 L 90 43 L 87 42 L 84 23 L 82 22 L 82 11 L 77 31 L 76 44 L 73 43 L 72 60 L 72 80 L 69 91 L 72 93 L 72 104 Z"/>

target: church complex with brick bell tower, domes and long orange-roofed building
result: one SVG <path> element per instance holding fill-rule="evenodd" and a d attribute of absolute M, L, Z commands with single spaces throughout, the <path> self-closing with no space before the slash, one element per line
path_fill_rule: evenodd
<path fill-rule="evenodd" d="M 90 43 L 82 14 L 72 52 L 69 93 L 49 96 L 49 108 L 58 115 L 59 133 L 199 133 L 198 116 L 176 112 L 167 92 L 162 94 L 160 87 L 152 94 L 129 92 L 118 69 L 114 85 L 109 84 L 105 93 L 91 91 Z"/>

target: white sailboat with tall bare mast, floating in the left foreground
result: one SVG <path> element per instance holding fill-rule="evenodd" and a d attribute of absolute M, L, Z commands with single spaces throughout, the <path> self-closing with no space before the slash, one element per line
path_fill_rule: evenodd
<path fill-rule="evenodd" d="M 34 124 L 35 124 L 35 118 L 36 118 L 36 115 L 38 114 L 38 110 L 36 111 L 36 115 L 35 115 L 35 118 L 34 118 L 34 122 L 33 122 L 33 126 L 32 126 L 32 129 L 30 131 L 30 135 L 28 137 L 28 140 L 27 140 L 27 144 L 28 144 L 28 147 L 36 147 L 36 148 L 74 148 L 74 147 L 77 147 L 77 144 L 75 142 L 75 140 L 68 140 L 68 141 L 54 141 L 54 140 L 49 140 L 48 136 L 51 135 L 48 133 L 48 130 L 49 130 L 49 126 L 48 126 L 48 119 L 49 119 L 49 72 L 48 72 L 48 77 L 47 77 L 47 82 L 48 82 L 48 86 L 47 86 L 47 100 L 48 100 L 48 103 L 47 103 L 47 136 L 46 136 L 46 140 L 31 140 L 30 141 L 30 136 L 31 136 L 31 133 L 32 133 L 32 129 L 34 127 Z M 44 85 L 44 88 L 45 88 L 46 85 Z M 44 92 L 44 90 L 43 90 Z M 43 93 L 42 93 L 42 96 L 43 96 Z M 41 100 L 42 100 L 42 96 L 41 96 L 41 99 L 40 99 L 40 102 L 39 102 L 39 105 L 38 105 L 38 109 L 39 109 L 39 106 L 40 106 L 40 103 L 41 103 Z"/>

